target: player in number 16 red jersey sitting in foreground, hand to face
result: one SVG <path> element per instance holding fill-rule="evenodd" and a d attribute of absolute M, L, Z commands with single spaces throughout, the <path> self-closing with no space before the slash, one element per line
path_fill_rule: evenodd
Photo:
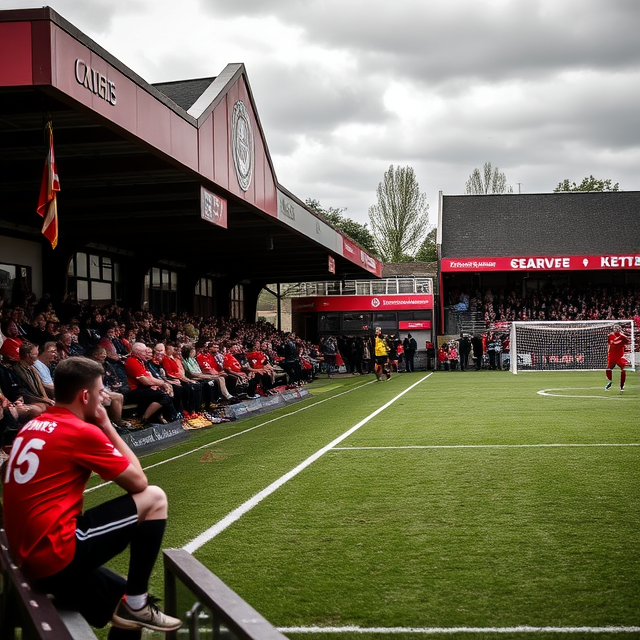
<path fill-rule="evenodd" d="M 138 458 L 111 424 L 102 404 L 102 374 L 102 366 L 88 358 L 61 362 L 54 377 L 55 406 L 16 436 L 4 477 L 9 547 L 42 590 L 90 624 L 112 621 L 121 629 L 170 631 L 180 620 L 159 611 L 147 594 L 164 536 L 167 497 L 149 485 Z M 92 472 L 126 493 L 82 513 Z M 102 565 L 127 546 L 125 580 Z"/>

